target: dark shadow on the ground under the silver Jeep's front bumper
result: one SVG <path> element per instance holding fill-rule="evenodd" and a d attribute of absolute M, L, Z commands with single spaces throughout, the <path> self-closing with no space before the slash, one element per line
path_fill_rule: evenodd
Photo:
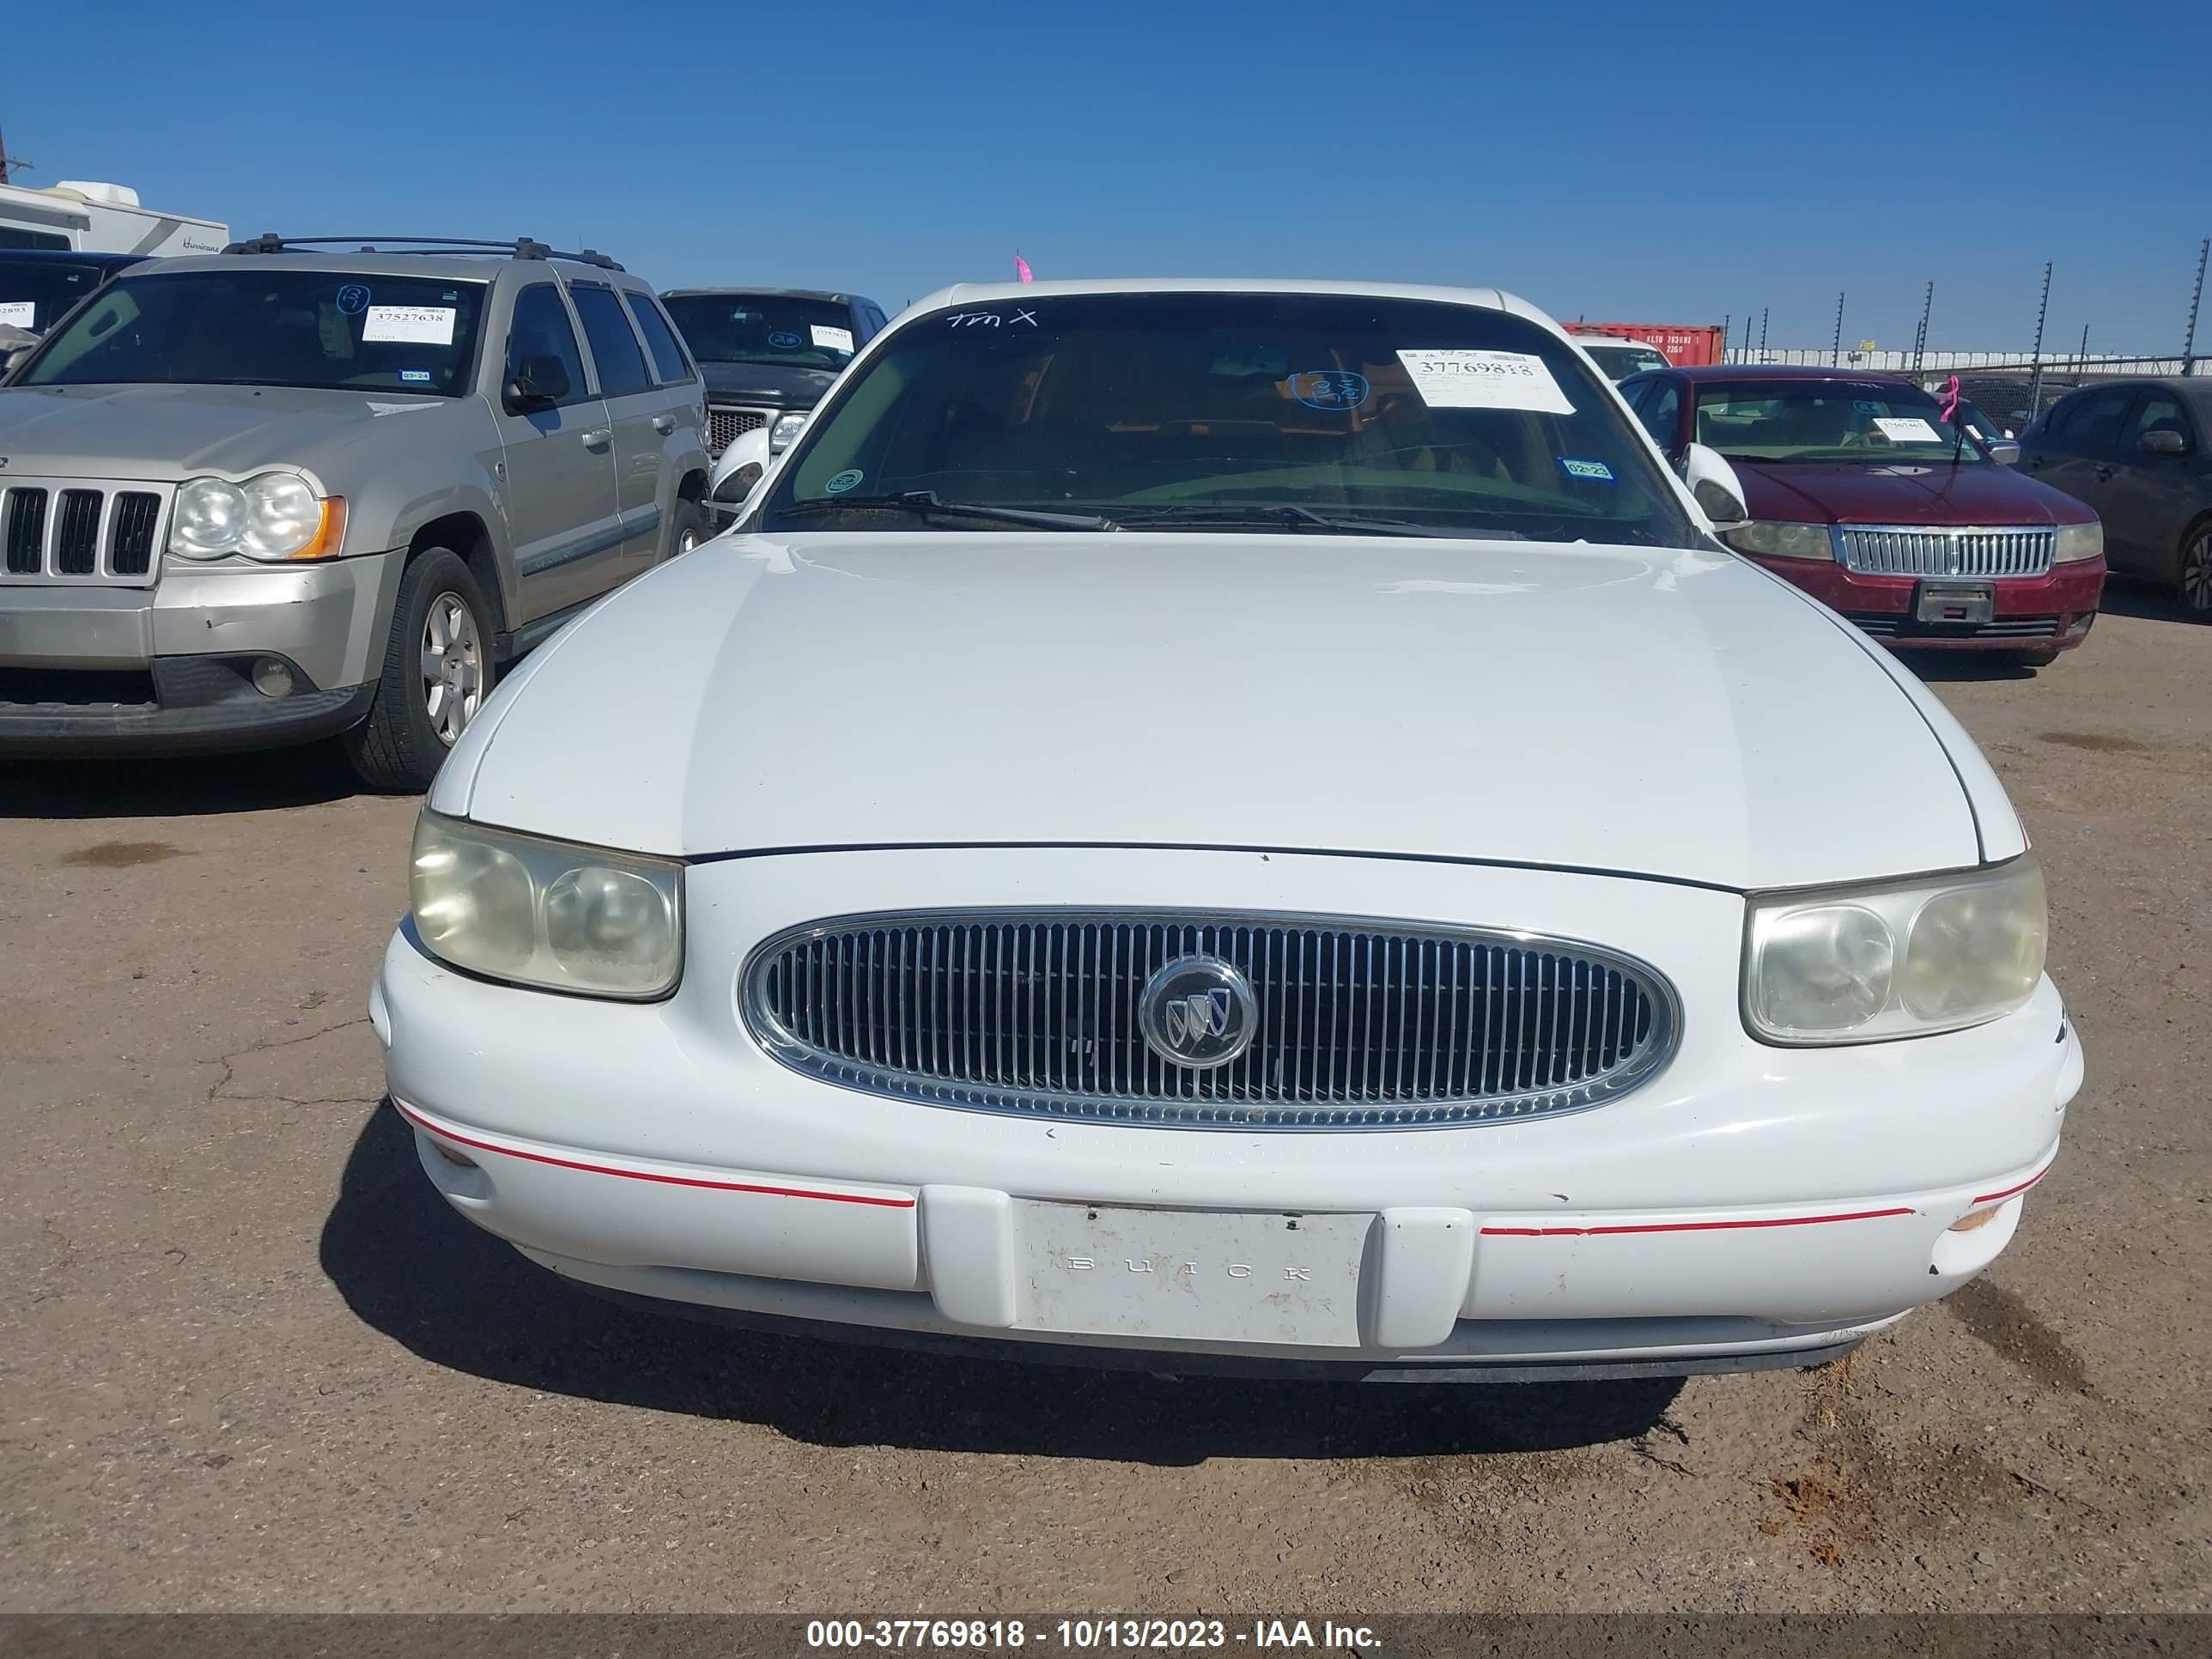
<path fill-rule="evenodd" d="M 336 743 L 259 754 L 0 761 L 0 818 L 199 818 L 361 794 Z"/>

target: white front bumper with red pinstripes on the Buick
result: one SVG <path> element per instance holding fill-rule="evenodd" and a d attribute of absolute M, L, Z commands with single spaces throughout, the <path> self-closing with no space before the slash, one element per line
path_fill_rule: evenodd
<path fill-rule="evenodd" d="M 1743 900 L 1666 883 L 1208 852 L 874 852 L 688 872 L 661 1004 L 487 984 L 403 927 L 372 993 L 392 1099 L 456 1210 L 580 1283 L 734 1314 L 1060 1354 L 1577 1367 L 1827 1354 L 1980 1272 L 2051 1166 L 2081 1055 L 2057 991 L 1975 1031 L 1765 1048 L 1736 1015 Z M 1670 1066 L 1566 1117 L 1360 1133 L 1166 1130 L 814 1082 L 737 1015 L 794 922 L 1033 900 L 1418 916 L 1588 938 L 1683 1000 Z M 445 1150 L 440 1150 L 445 1148 Z M 451 1155 L 451 1157 L 449 1157 Z M 462 1159 L 462 1161 L 456 1161 Z M 1356 1338 L 1314 1347 L 1040 1323 L 1033 1203 L 1374 1217 Z M 1971 1210 L 2000 1212 L 1949 1232 Z"/>

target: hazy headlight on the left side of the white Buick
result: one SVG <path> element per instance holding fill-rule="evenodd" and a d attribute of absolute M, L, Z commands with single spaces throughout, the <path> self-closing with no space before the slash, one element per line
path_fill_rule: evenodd
<path fill-rule="evenodd" d="M 684 867 L 668 858 L 425 812 L 409 896 L 425 949 L 491 980 L 648 1002 L 684 971 Z"/>

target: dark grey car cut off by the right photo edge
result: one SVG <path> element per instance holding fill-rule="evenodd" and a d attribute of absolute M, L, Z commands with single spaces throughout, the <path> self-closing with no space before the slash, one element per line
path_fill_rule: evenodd
<path fill-rule="evenodd" d="M 2020 447 L 2031 473 L 2097 509 L 2117 575 L 2150 577 L 2212 622 L 2212 378 L 2070 392 Z"/>

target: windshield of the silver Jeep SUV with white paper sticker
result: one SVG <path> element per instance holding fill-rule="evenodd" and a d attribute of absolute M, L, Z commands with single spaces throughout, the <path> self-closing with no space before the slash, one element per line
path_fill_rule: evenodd
<path fill-rule="evenodd" d="M 460 396 L 482 283 L 345 272 L 122 276 L 15 385 L 285 385 Z"/>

